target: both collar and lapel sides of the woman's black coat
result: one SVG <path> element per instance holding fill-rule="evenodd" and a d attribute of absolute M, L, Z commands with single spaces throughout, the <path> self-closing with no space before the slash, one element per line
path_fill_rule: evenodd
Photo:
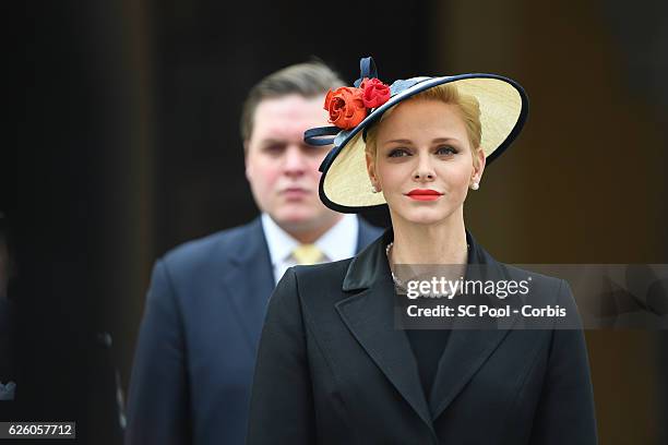
<path fill-rule="evenodd" d="M 506 272 L 470 233 L 469 257 L 485 264 L 485 279 L 503 279 Z M 439 362 L 429 400 L 425 397 L 413 350 L 395 327 L 394 296 L 385 246 L 392 229 L 360 252 L 348 266 L 343 290 L 356 292 L 339 301 L 339 316 L 387 380 L 433 432 L 436 420 L 464 388 L 508 334 L 508 329 L 453 329 Z"/>

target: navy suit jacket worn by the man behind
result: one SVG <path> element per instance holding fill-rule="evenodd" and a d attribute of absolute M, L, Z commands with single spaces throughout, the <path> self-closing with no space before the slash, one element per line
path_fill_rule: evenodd
<path fill-rule="evenodd" d="M 360 219 L 358 251 L 380 234 Z M 128 444 L 243 443 L 273 289 L 260 218 L 156 263 L 132 370 Z"/>

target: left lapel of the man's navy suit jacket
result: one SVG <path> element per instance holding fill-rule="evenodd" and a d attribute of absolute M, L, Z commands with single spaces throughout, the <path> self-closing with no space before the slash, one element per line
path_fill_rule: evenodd
<path fill-rule="evenodd" d="M 274 275 L 260 218 L 243 227 L 224 252 L 229 266 L 222 270 L 222 292 L 242 326 L 253 353 L 260 341 Z"/>

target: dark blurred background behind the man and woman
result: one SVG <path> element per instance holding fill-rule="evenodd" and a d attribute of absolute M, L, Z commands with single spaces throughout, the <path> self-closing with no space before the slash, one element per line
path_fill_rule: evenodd
<path fill-rule="evenodd" d="M 517 80 L 529 120 L 468 200 L 472 232 L 508 263 L 668 263 L 667 2 L 24 8 L 5 15 L 23 22 L 10 71 L 25 71 L 16 151 L 0 166 L 7 298 L 19 308 L 19 397 L 0 401 L 0 420 L 76 420 L 80 443 L 120 443 L 152 264 L 257 215 L 241 103 L 262 76 L 312 57 L 349 82 L 369 55 L 385 81 Z M 667 333 L 586 336 L 600 443 L 668 443 Z"/>

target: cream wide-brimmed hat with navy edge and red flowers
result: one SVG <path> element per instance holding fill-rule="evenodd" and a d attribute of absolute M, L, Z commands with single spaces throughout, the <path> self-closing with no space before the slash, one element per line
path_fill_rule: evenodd
<path fill-rule="evenodd" d="M 508 148 L 528 113 L 528 98 L 517 82 L 497 74 L 472 73 L 398 80 L 389 86 L 379 81 L 373 59 L 363 58 L 355 86 L 330 91 L 325 98 L 334 125 L 310 129 L 303 135 L 310 145 L 334 144 L 320 166 L 320 199 L 327 207 L 358 213 L 385 204 L 382 193 L 372 192 L 367 173 L 367 130 L 402 100 L 443 84 L 456 85 L 458 94 L 478 100 L 486 164 Z"/>

